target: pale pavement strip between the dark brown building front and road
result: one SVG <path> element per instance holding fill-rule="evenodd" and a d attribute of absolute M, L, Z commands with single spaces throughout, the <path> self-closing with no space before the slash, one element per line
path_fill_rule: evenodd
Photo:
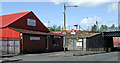
<path fill-rule="evenodd" d="M 59 52 L 50 52 L 50 53 L 41 53 L 41 54 L 23 54 L 24 56 L 42 56 L 42 57 L 71 57 L 71 56 L 84 56 L 91 54 L 100 54 L 105 53 L 104 51 L 59 51 Z"/>

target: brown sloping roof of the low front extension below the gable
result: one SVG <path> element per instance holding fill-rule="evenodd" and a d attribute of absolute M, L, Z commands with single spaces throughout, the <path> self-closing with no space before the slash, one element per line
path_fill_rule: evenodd
<path fill-rule="evenodd" d="M 37 35 L 58 35 L 56 33 L 45 33 L 45 32 L 39 32 L 39 31 L 33 31 L 33 30 L 26 30 L 26 29 L 18 29 L 18 28 L 12 28 L 12 27 L 8 27 L 12 30 L 18 31 L 20 33 L 26 33 L 26 34 L 37 34 Z"/>

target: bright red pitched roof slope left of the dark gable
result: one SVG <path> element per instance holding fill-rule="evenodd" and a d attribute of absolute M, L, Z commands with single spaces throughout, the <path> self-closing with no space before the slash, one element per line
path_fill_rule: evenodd
<path fill-rule="evenodd" d="M 32 12 L 32 11 L 20 12 L 20 13 L 14 13 L 14 14 L 0 16 L 0 19 L 2 19 L 2 23 L 0 23 L 0 27 L 6 27 L 10 23 L 16 21 L 17 19 L 23 17 L 24 15 L 26 15 L 30 12 Z"/>

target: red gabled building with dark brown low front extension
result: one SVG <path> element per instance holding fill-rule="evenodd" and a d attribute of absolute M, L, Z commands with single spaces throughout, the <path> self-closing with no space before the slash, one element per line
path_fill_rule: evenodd
<path fill-rule="evenodd" d="M 63 50 L 63 38 L 51 33 L 32 11 L 0 16 L 2 51 L 34 53 Z"/>

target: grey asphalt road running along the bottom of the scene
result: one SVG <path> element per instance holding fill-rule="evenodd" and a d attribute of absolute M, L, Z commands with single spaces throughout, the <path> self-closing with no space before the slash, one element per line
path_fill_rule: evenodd
<path fill-rule="evenodd" d="M 120 52 L 110 52 L 85 56 L 41 56 L 40 54 L 20 55 L 11 58 L 22 58 L 22 61 L 118 61 Z M 120 58 L 119 58 L 120 60 Z"/>

